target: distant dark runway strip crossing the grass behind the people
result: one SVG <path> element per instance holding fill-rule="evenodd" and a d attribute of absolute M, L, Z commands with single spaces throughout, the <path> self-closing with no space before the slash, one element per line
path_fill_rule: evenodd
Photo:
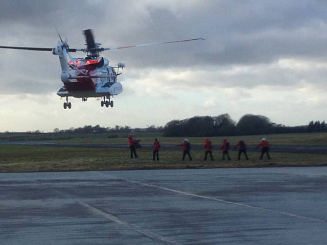
<path fill-rule="evenodd" d="M 99 148 L 99 149 L 122 149 L 128 148 L 127 144 L 62 144 L 42 141 L 9 141 L 0 142 L 6 145 L 31 145 L 31 146 L 49 146 L 49 147 L 76 147 L 76 148 Z M 142 144 L 144 149 L 152 149 L 152 144 Z M 178 149 L 175 144 L 161 144 L 161 150 Z M 192 144 L 192 149 L 203 150 L 203 145 Z M 214 145 L 214 150 L 221 150 L 220 146 Z M 230 149 L 232 150 L 232 148 Z M 312 153 L 312 154 L 327 154 L 326 145 L 271 145 L 270 152 L 284 152 L 284 153 Z M 256 145 L 248 145 L 248 152 L 260 152 L 256 150 Z"/>

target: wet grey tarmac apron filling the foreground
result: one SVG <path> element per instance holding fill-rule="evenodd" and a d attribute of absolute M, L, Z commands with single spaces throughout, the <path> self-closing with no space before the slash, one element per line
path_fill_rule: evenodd
<path fill-rule="evenodd" d="M 1 244 L 326 244 L 327 167 L 0 174 Z"/>

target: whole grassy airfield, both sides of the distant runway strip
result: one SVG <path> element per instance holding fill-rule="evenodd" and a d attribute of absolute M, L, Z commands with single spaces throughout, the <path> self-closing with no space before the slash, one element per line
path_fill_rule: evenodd
<path fill-rule="evenodd" d="M 12 134 L 9 134 L 9 136 Z M 0 140 L 6 141 L 44 141 L 74 144 L 127 144 L 127 135 L 113 138 L 110 134 L 80 135 L 15 135 L 2 134 Z M 109 136 L 109 137 L 108 137 Z M 151 144 L 157 134 L 136 134 L 144 144 Z M 116 136 L 114 136 L 116 137 Z M 177 144 L 183 138 L 158 136 L 161 144 Z M 228 137 L 231 145 L 243 139 L 247 144 L 256 144 L 266 137 L 273 145 L 327 145 L 327 133 L 282 134 Z M 212 137 L 213 144 L 220 145 L 224 137 Z M 192 144 L 203 144 L 205 137 L 192 138 Z M 249 152 L 249 161 L 237 159 L 237 152 L 230 151 L 231 161 L 221 160 L 221 151 L 214 151 L 214 161 L 203 161 L 204 151 L 192 150 L 193 161 L 181 161 L 181 148 L 160 151 L 160 161 L 152 160 L 150 149 L 138 149 L 138 159 L 130 159 L 129 149 L 59 148 L 47 146 L 0 145 L 0 172 L 29 171 L 73 171 L 73 170 L 115 170 L 115 169 L 165 169 L 165 168 L 217 168 L 217 167 L 276 167 L 276 166 L 324 166 L 327 156 L 322 154 L 271 153 L 271 160 L 259 160 L 260 151 Z"/>

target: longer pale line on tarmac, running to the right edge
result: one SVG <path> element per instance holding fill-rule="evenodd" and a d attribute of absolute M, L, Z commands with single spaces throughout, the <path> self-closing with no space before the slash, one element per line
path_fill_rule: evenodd
<path fill-rule="evenodd" d="M 96 173 L 102 174 L 102 175 L 105 175 L 105 176 L 109 176 L 109 175 L 101 173 L 101 172 L 96 172 Z M 140 182 L 140 181 L 135 181 L 135 180 L 129 180 L 129 179 L 124 179 L 124 178 L 120 178 L 120 179 L 124 180 L 126 182 L 129 182 L 129 183 L 134 183 L 134 184 L 139 184 L 139 185 L 143 185 L 143 186 L 149 186 L 149 187 L 154 187 L 154 188 L 158 188 L 158 189 L 162 189 L 162 190 L 167 190 L 167 191 L 175 192 L 175 193 L 185 195 L 185 196 L 189 196 L 189 197 L 195 197 L 195 198 L 201 198 L 201 199 L 206 199 L 206 200 L 211 200 L 211 201 L 217 201 L 217 202 L 220 202 L 220 203 L 231 204 L 231 205 L 236 205 L 236 206 L 240 206 L 240 207 L 258 209 L 258 210 L 277 213 L 277 214 L 282 214 L 282 215 L 286 215 L 286 216 L 290 216 L 290 217 L 307 219 L 307 220 L 310 220 L 312 222 L 326 223 L 326 220 L 322 220 L 322 219 L 318 219 L 318 218 L 312 218 L 312 217 L 297 215 L 297 214 L 293 214 L 293 213 L 289 213 L 289 212 L 277 211 L 277 210 L 268 209 L 268 208 L 256 207 L 256 206 L 248 205 L 248 204 L 230 202 L 230 201 L 226 201 L 226 200 L 219 199 L 219 198 L 206 197 L 205 195 L 198 195 L 198 194 L 195 194 L 195 193 L 175 190 L 175 189 L 171 189 L 171 188 L 167 188 L 167 187 L 159 186 L 159 185 L 154 185 L 154 184 L 147 184 L 147 183 Z"/>

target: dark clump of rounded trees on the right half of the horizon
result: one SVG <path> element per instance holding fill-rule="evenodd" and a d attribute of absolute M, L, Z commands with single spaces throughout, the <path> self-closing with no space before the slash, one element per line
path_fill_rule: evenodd
<path fill-rule="evenodd" d="M 306 126 L 288 127 L 275 124 L 263 115 L 246 114 L 238 122 L 229 114 L 219 116 L 194 116 L 183 120 L 172 120 L 164 127 L 164 136 L 233 136 L 282 133 L 327 132 L 325 121 L 310 121 Z"/>

